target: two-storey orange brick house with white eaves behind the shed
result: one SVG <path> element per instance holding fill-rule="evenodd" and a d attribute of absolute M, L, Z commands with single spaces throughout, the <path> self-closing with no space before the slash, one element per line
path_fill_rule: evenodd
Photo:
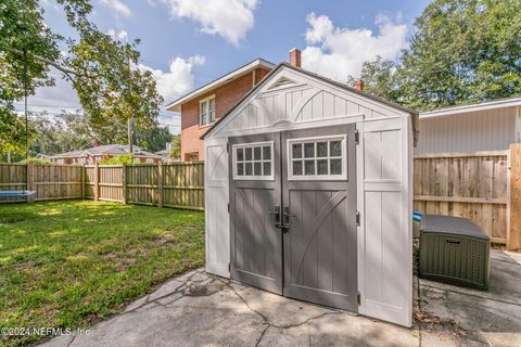
<path fill-rule="evenodd" d="M 204 160 L 201 136 L 274 67 L 256 59 L 166 105 L 181 113 L 181 160 Z"/>

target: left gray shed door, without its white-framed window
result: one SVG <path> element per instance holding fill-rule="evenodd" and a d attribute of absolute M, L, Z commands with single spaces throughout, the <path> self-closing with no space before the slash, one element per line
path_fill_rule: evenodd
<path fill-rule="evenodd" d="M 274 141 L 274 157 L 280 157 L 280 134 L 237 137 L 234 144 Z M 233 172 L 230 152 L 230 172 Z M 280 162 L 274 160 L 275 180 L 230 179 L 231 278 L 282 294 L 282 239 L 275 216 L 267 210 L 280 205 Z"/>

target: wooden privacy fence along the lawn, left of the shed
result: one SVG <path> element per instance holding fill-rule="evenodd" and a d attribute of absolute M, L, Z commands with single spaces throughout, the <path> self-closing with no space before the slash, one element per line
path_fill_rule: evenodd
<path fill-rule="evenodd" d="M 92 198 L 204 209 L 204 166 L 0 164 L 0 190 L 34 190 L 36 201 Z"/>

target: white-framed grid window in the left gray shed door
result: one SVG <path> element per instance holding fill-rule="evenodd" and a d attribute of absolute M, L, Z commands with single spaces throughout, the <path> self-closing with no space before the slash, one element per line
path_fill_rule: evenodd
<path fill-rule="evenodd" d="M 274 179 L 274 142 L 233 145 L 233 179 Z"/>

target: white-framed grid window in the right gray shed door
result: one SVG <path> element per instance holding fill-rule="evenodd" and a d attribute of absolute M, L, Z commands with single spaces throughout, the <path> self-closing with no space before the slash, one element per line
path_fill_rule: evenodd
<path fill-rule="evenodd" d="M 290 180 L 346 180 L 345 136 L 288 141 Z"/>

